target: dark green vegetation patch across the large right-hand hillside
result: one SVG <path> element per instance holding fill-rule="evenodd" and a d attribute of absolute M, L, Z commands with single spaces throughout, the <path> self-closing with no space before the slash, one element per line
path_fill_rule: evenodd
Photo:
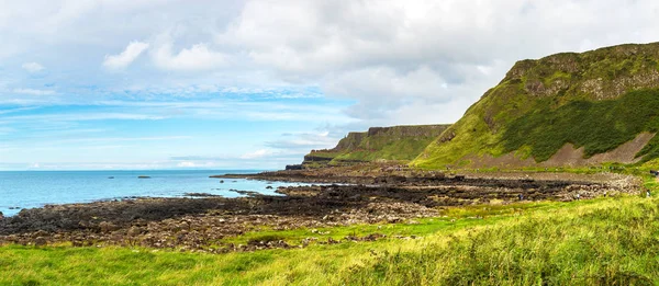
<path fill-rule="evenodd" d="M 603 153 L 634 139 L 643 131 L 659 129 L 659 90 L 626 93 L 616 100 L 574 101 L 556 110 L 536 112 L 510 123 L 501 142 L 504 152 L 527 146 L 536 161 L 548 160 L 566 142 L 584 147 L 584 155 Z M 659 140 L 659 139 L 657 139 Z M 641 155 L 659 156 L 657 142 Z"/>

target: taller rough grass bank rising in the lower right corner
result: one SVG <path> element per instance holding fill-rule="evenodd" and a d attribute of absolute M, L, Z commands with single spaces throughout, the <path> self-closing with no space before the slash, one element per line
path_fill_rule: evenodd
<path fill-rule="evenodd" d="M 525 216 L 444 237 L 383 253 L 351 277 L 357 284 L 654 285 L 659 283 L 659 209 L 656 201 L 640 199 Z"/>

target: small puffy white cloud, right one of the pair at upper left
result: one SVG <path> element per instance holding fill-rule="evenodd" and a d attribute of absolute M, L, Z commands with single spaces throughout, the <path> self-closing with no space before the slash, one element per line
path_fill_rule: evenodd
<path fill-rule="evenodd" d="M 166 70 L 203 71 L 226 65 L 226 56 L 213 52 L 206 44 L 194 44 L 172 54 L 171 44 L 163 44 L 153 54 L 154 64 Z"/>

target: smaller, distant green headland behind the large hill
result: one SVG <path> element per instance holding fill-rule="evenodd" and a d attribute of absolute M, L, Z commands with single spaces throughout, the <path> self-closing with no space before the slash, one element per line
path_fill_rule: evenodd
<path fill-rule="evenodd" d="M 312 150 L 304 157 L 305 168 L 371 161 L 410 161 L 449 125 L 371 127 L 349 133 L 333 149 Z"/>

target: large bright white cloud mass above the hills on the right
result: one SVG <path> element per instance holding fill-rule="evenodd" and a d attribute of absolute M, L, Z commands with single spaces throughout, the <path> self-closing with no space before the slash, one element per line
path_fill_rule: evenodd
<path fill-rule="evenodd" d="M 516 60 L 657 41 L 658 11 L 650 0 L 249 1 L 216 43 L 281 80 L 355 100 L 347 114 L 365 123 L 437 123 L 457 119 Z"/>

